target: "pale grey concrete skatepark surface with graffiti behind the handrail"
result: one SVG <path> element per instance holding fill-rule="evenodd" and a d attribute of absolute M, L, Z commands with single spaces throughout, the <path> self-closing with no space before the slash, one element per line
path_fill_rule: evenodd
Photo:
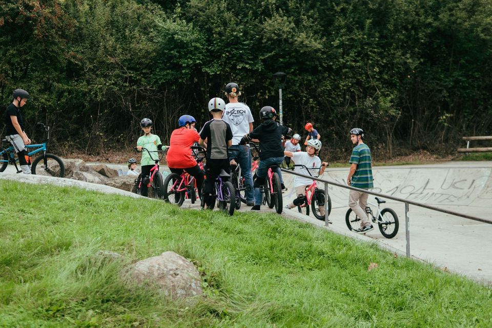
<path fill-rule="evenodd" d="M 114 168 L 126 166 L 110 165 Z M 162 167 L 166 175 L 167 168 Z M 9 166 L 0 178 L 31 183 L 50 183 L 58 178 L 24 176 L 13 173 Z M 327 168 L 321 177 L 324 180 L 345 184 L 347 168 Z M 492 162 L 445 162 L 436 165 L 419 166 L 384 166 L 374 167 L 373 191 L 388 196 L 400 197 L 446 209 L 454 212 L 477 216 L 492 222 Z M 284 205 L 295 198 L 294 175 L 284 172 L 283 178 L 288 191 L 283 194 Z M 64 179 L 63 185 L 73 185 L 101 192 L 112 192 L 114 188 L 93 185 L 88 182 Z M 68 181 L 67 181 L 68 180 Z M 69 182 L 70 181 L 70 182 Z M 73 182 L 71 182 L 73 181 Z M 53 182 L 51 182 L 53 183 Z M 88 186 L 85 186 L 85 185 Z M 323 183 L 320 183 L 322 187 Z M 97 186 L 100 186 L 97 187 Z M 99 190 L 100 189 L 100 190 Z M 405 255 L 405 214 L 404 204 L 386 199 L 381 208 L 389 207 L 396 211 L 400 227 L 398 234 L 392 239 L 384 238 L 376 225 L 375 229 L 359 235 L 348 230 L 345 224 L 345 213 L 348 210 L 348 190 L 329 185 L 328 192 L 332 199 L 332 212 L 328 228 L 324 221 L 317 220 L 311 214 L 305 216 L 295 210 L 284 209 L 289 218 L 303 220 L 330 231 L 344 234 L 352 238 L 378 242 L 378 244 L 397 254 Z M 114 193 L 127 192 L 114 189 Z M 369 200 L 375 202 L 374 196 Z M 183 207 L 198 208 L 198 203 L 191 204 L 186 200 Z M 249 211 L 242 206 L 242 211 Z M 262 212 L 274 212 L 262 206 Z M 486 284 L 492 284 L 492 224 L 453 216 L 438 211 L 409 206 L 409 234 L 411 256 L 437 265 L 444 271 L 465 275 Z"/>

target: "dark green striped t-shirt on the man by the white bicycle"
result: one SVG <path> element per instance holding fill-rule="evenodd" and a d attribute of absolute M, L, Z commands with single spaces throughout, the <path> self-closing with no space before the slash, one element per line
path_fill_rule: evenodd
<path fill-rule="evenodd" d="M 372 158 L 369 147 L 366 144 L 355 146 L 348 162 L 357 164 L 357 170 L 352 176 L 351 186 L 362 189 L 373 188 Z"/>

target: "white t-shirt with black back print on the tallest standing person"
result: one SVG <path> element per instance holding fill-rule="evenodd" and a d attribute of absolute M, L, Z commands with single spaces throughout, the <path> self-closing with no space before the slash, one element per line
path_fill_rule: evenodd
<path fill-rule="evenodd" d="M 222 119 L 231 126 L 233 145 L 239 145 L 241 138 L 250 133 L 250 123 L 255 121 L 250 108 L 244 103 L 227 104 Z"/>

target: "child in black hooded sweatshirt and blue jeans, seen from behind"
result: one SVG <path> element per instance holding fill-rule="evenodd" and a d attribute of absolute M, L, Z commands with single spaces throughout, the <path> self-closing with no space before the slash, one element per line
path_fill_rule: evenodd
<path fill-rule="evenodd" d="M 241 139 L 240 145 L 245 145 L 253 139 L 260 141 L 260 164 L 256 171 L 256 179 L 254 181 L 255 187 L 255 206 L 251 208 L 252 211 L 259 211 L 261 205 L 261 191 L 260 187 L 265 183 L 265 177 L 267 177 L 268 168 L 272 165 L 277 165 L 276 172 L 280 178 L 282 189 L 285 189 L 282 180 L 282 173 L 279 166 L 283 162 L 283 147 L 282 147 L 282 135 L 290 135 L 292 133 L 291 128 L 287 128 L 278 124 L 275 121 L 277 112 L 271 106 L 265 106 L 260 110 L 261 124 L 252 132 L 244 135 Z"/>

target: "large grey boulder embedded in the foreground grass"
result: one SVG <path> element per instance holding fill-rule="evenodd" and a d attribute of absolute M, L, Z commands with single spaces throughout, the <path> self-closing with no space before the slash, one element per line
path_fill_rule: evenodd
<path fill-rule="evenodd" d="M 157 286 L 173 300 L 194 298 L 203 293 L 195 265 L 174 252 L 136 262 L 132 265 L 130 277 L 135 283 Z"/>

